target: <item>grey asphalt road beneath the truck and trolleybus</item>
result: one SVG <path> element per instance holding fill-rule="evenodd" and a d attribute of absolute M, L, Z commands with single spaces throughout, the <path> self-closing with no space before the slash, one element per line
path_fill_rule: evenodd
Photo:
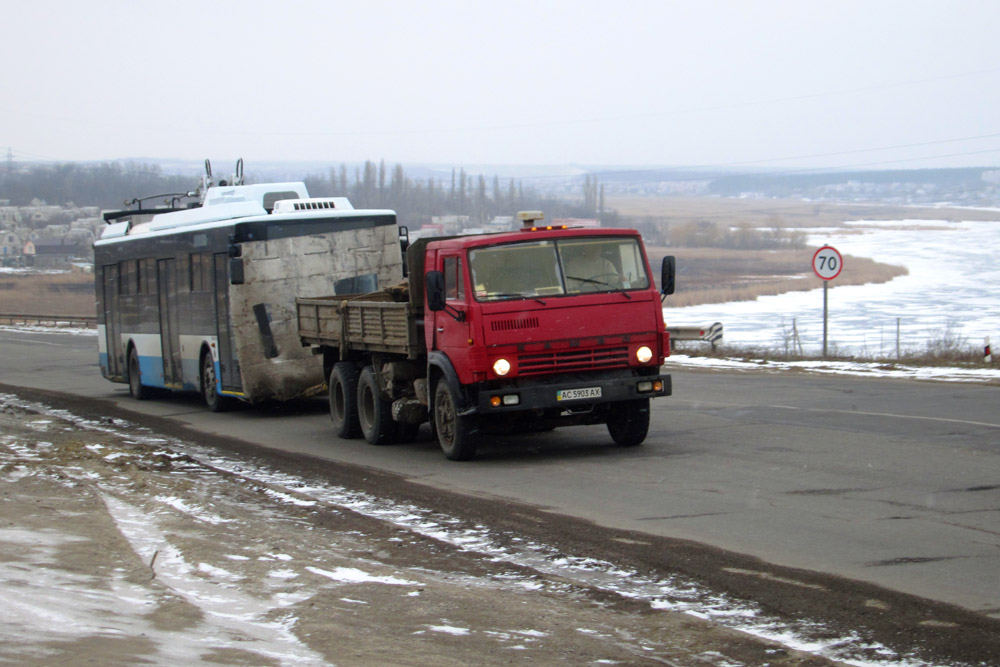
<path fill-rule="evenodd" d="M 322 401 L 211 414 L 136 402 L 92 336 L 0 331 L 0 383 L 109 399 L 206 433 L 682 538 L 1000 618 L 1000 387 L 798 373 L 674 371 L 646 443 L 601 427 L 510 437 L 470 463 L 422 433 L 336 439 Z"/>

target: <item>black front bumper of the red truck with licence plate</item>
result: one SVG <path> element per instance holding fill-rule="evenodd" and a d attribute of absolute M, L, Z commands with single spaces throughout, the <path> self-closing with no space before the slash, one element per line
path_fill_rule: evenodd
<path fill-rule="evenodd" d="M 478 387 L 473 412 L 499 414 L 524 410 L 585 410 L 596 405 L 670 396 L 670 375 L 601 373 L 553 378 L 519 378 Z"/>

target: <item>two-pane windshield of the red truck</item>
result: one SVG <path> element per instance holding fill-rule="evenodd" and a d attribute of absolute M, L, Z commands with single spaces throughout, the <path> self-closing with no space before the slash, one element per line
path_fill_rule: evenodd
<path fill-rule="evenodd" d="M 478 301 L 649 288 L 634 237 L 526 241 L 469 251 Z"/>

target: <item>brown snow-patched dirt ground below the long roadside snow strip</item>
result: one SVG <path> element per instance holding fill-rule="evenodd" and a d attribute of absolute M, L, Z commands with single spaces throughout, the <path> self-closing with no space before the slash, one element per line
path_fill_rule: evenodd
<path fill-rule="evenodd" d="M 827 664 L 2 403 L 4 661 Z"/>

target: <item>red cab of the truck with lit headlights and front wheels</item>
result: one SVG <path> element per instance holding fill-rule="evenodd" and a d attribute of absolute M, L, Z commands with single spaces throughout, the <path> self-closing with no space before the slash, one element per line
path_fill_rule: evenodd
<path fill-rule="evenodd" d="M 431 242 L 424 263 L 429 408 L 450 458 L 491 430 L 645 439 L 670 344 L 638 232 L 530 224 Z"/>

